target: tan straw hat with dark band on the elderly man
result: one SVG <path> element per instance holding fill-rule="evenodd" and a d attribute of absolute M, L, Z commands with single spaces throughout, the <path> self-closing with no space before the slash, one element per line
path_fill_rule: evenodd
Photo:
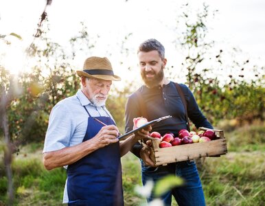
<path fill-rule="evenodd" d="M 78 76 L 86 76 L 88 78 L 97 78 L 101 80 L 114 80 L 120 81 L 119 76 L 114 75 L 111 62 L 108 58 L 91 56 L 84 61 L 84 67 L 82 71 L 76 71 Z"/>

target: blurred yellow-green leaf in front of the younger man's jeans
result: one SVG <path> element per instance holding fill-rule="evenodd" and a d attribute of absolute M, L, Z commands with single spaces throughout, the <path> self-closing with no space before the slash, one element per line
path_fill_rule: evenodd
<path fill-rule="evenodd" d="M 154 196 L 161 196 L 172 188 L 183 185 L 183 183 L 183 179 L 179 176 L 165 176 L 154 185 Z"/>

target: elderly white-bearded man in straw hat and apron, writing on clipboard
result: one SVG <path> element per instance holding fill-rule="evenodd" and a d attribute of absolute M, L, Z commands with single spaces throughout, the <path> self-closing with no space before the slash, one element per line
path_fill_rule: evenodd
<path fill-rule="evenodd" d="M 43 163 L 47 170 L 67 168 L 63 203 L 124 205 L 120 157 L 148 130 L 117 139 L 119 130 L 104 105 L 112 81 L 120 78 L 107 58 L 87 58 L 77 73 L 81 89 L 51 111 Z"/>

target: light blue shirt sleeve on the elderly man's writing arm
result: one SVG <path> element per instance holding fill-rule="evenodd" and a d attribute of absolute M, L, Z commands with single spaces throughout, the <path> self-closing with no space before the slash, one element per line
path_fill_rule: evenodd
<path fill-rule="evenodd" d="M 72 131 L 71 110 L 63 104 L 56 104 L 49 115 L 49 126 L 45 135 L 43 152 L 60 150 L 69 146 Z"/>

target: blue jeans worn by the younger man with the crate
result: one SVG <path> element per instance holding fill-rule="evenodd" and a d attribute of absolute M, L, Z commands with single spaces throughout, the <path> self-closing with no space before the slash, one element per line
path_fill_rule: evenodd
<path fill-rule="evenodd" d="M 200 177 L 198 176 L 198 170 L 194 161 L 181 161 L 178 163 L 170 163 L 166 166 L 159 166 L 157 168 L 146 167 L 141 161 L 142 170 L 141 177 L 143 185 L 146 181 L 151 180 L 156 182 L 161 177 L 168 174 L 174 174 L 181 176 L 185 185 L 181 187 L 175 187 L 170 192 L 163 194 L 160 198 L 165 205 L 171 205 L 172 195 L 179 206 L 204 206 L 205 196 L 203 194 L 203 187 L 200 183 Z M 150 202 L 154 198 L 151 195 L 147 201 Z"/>

